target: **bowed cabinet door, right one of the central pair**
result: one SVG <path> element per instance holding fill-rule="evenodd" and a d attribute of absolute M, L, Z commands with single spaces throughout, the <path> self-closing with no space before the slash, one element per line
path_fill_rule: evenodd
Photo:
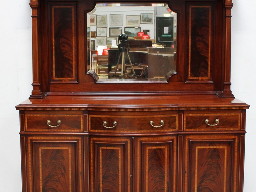
<path fill-rule="evenodd" d="M 176 191 L 176 136 L 135 138 L 134 191 Z"/>

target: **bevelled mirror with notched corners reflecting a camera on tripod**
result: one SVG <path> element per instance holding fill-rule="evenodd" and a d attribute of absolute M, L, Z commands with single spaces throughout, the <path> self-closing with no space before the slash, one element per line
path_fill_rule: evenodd
<path fill-rule="evenodd" d="M 176 74 L 176 13 L 167 4 L 96 4 L 87 69 L 98 82 L 166 82 Z"/>

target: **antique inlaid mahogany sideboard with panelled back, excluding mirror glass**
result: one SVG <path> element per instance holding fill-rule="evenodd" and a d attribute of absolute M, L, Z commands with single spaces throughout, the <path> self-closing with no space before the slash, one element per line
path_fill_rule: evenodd
<path fill-rule="evenodd" d="M 16 106 L 22 191 L 242 192 L 249 105 L 230 89 L 232 1 L 114 1 L 176 14 L 176 66 L 155 79 L 90 69 L 88 13 L 100 3 L 30 2 L 33 90 Z"/>

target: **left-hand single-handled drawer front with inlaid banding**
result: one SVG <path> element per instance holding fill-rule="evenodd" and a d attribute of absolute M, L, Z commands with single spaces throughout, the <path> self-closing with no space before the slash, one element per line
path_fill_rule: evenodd
<path fill-rule="evenodd" d="M 25 115 L 25 131 L 82 132 L 83 116 L 56 114 L 27 114 Z"/>

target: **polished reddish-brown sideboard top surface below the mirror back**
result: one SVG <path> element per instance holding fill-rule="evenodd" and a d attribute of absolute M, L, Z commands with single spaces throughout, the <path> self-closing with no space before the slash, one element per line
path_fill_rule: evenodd
<path fill-rule="evenodd" d="M 17 110 L 186 110 L 248 109 L 249 105 L 235 98 L 216 95 L 141 95 L 141 96 L 56 96 L 28 99 Z"/>

